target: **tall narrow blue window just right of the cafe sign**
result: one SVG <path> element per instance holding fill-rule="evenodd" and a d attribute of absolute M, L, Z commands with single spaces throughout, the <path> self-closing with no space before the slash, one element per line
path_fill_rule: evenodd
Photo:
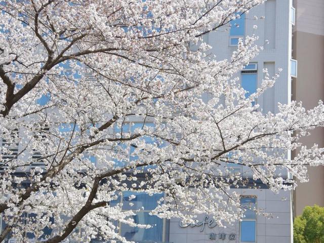
<path fill-rule="evenodd" d="M 246 210 L 240 222 L 240 242 L 256 242 L 256 200 L 255 196 L 241 196 L 241 207 Z"/>

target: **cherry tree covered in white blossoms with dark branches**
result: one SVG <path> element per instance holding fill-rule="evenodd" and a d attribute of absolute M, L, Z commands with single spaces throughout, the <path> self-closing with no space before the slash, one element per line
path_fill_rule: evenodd
<path fill-rule="evenodd" d="M 264 70 L 248 98 L 234 78 L 259 52 L 257 36 L 240 40 L 230 60 L 208 56 L 203 39 L 262 2 L 1 2 L 0 241 L 50 228 L 43 240 L 60 242 L 80 227 L 84 240 L 128 242 L 113 221 L 150 226 L 112 203 L 126 190 L 165 193 L 151 212 L 161 218 L 233 223 L 244 210 L 229 189 L 246 176 L 229 174 L 232 164 L 273 191 L 296 186 L 278 170 L 306 181 L 323 149 L 301 147 L 293 159 L 287 151 L 323 125 L 323 104 L 263 114 L 253 101 L 278 74 Z"/>

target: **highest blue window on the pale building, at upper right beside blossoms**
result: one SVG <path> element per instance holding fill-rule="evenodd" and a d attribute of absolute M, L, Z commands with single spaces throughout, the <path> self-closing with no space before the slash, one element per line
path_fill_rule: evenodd
<path fill-rule="evenodd" d="M 239 38 L 245 35 L 245 14 L 237 13 L 238 18 L 230 21 L 229 46 L 237 46 Z"/>

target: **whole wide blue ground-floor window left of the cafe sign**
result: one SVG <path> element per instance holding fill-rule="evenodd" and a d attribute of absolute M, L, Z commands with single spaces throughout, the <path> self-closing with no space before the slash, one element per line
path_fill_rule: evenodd
<path fill-rule="evenodd" d="M 153 194 L 152 196 L 144 192 L 132 192 L 124 191 L 121 193 L 122 196 L 117 200 L 111 202 L 111 206 L 117 203 L 123 204 L 122 210 L 139 210 L 139 212 L 131 216 L 135 223 L 139 224 L 150 224 L 153 227 L 149 229 L 142 229 L 137 227 L 131 227 L 127 224 L 119 225 L 119 234 L 124 236 L 127 240 L 133 240 L 135 242 L 156 242 L 165 241 L 166 234 L 166 219 L 160 219 L 156 216 L 149 215 L 149 212 L 157 206 L 157 201 L 164 197 L 163 193 Z M 135 195 L 135 198 L 130 197 Z M 121 199 L 120 199 L 121 198 Z"/>

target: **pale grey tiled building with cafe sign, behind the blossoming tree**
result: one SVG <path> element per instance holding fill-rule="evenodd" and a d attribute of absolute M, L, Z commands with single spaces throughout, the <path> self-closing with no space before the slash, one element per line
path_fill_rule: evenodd
<path fill-rule="evenodd" d="M 294 8 L 291 0 L 268 0 L 264 5 L 241 15 L 230 25 L 223 26 L 205 36 L 205 41 L 213 47 L 211 54 L 217 59 L 229 59 L 237 48 L 239 38 L 256 34 L 259 36 L 257 45 L 264 46 L 263 51 L 237 75 L 241 86 L 254 93 L 261 85 L 263 69 L 267 68 L 274 75 L 282 68 L 280 77 L 273 88 L 266 91 L 256 102 L 264 113 L 276 113 L 277 103 L 290 103 L 292 93 L 291 77 L 296 76 L 296 61 L 292 59 L 292 26 L 294 25 Z M 256 17 L 255 17 L 256 16 Z M 261 18 L 264 16 L 265 18 Z M 257 25 L 258 28 L 255 28 Z M 134 126 L 140 120 L 129 120 Z M 128 127 L 130 132 L 133 128 Z M 290 157 L 290 152 L 287 151 Z M 159 219 L 149 215 L 154 209 L 156 200 L 163 194 L 153 197 L 139 193 L 132 203 L 132 209 L 142 209 L 134 219 L 137 223 L 155 225 L 150 229 L 139 229 L 120 224 L 119 233 L 136 242 L 258 242 L 258 243 L 289 243 L 292 241 L 292 196 L 289 191 L 273 193 L 266 185 L 252 180 L 247 168 L 235 166 L 229 168 L 233 172 L 244 173 L 250 183 L 244 187 L 232 189 L 241 195 L 241 204 L 263 210 L 268 217 L 257 215 L 248 210 L 246 217 L 226 228 L 218 227 L 209 215 L 200 215 L 198 222 L 184 225 L 179 219 Z M 280 172 L 284 178 L 290 177 L 287 172 Z M 257 184 L 258 189 L 251 188 Z M 133 193 L 134 194 L 134 193 Z M 129 210 L 128 192 L 124 192 L 120 200 L 124 201 L 123 209 Z M 142 208 L 143 207 L 143 208 Z M 95 241 L 94 241 L 95 242 Z"/>

